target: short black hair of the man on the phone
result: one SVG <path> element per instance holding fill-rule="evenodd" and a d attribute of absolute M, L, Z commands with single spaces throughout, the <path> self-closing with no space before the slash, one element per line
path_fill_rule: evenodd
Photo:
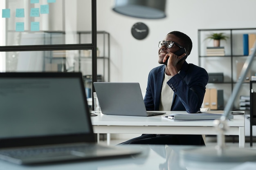
<path fill-rule="evenodd" d="M 189 38 L 188 35 L 180 32 L 180 31 L 172 31 L 168 34 L 173 34 L 173 35 L 177 36 L 178 38 L 180 38 L 180 40 L 182 41 L 182 44 L 180 44 L 180 45 L 186 49 L 188 55 L 190 54 L 190 52 L 192 50 L 192 40 Z"/>

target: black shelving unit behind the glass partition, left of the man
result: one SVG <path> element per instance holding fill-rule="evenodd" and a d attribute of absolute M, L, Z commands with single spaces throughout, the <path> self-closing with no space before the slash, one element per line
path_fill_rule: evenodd
<path fill-rule="evenodd" d="M 64 41 L 65 40 L 65 32 L 62 31 L 54 31 L 50 32 L 47 31 L 47 43 L 52 44 L 52 37 L 53 35 L 59 35 L 59 40 Z M 90 31 L 78 31 L 78 44 L 88 44 L 90 43 L 90 38 L 92 32 Z M 87 36 L 88 35 L 88 36 Z M 109 82 L 110 80 L 110 34 L 106 31 L 97 31 L 97 48 L 99 48 L 99 56 L 97 55 L 97 74 L 102 75 L 102 80 Z M 58 42 L 58 43 L 63 43 L 63 42 Z M 85 49 L 89 51 L 89 55 L 85 56 L 83 51 L 84 50 L 79 50 L 78 54 L 74 56 L 74 71 L 81 71 L 83 72 L 83 75 L 92 75 L 91 69 L 88 70 L 84 69 L 83 62 L 84 63 L 89 63 L 90 66 L 92 66 L 92 49 Z M 56 52 L 56 51 L 55 51 Z M 57 51 L 58 52 L 58 51 Z M 44 66 L 45 68 L 46 63 L 52 64 L 54 61 L 58 64 L 63 65 L 64 70 L 65 69 L 65 61 L 69 56 L 66 56 L 65 52 L 63 52 L 63 55 L 61 55 L 61 51 L 58 52 L 58 56 L 54 57 L 54 51 L 46 51 L 44 53 Z M 47 71 L 45 69 L 45 71 Z M 98 78 L 97 78 L 98 79 Z"/>

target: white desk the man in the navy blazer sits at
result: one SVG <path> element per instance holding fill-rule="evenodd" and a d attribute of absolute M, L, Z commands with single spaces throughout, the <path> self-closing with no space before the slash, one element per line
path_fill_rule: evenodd
<path fill-rule="evenodd" d="M 184 111 L 167 111 L 171 113 L 184 113 Z M 221 113 L 223 111 L 205 111 Z M 173 121 L 162 118 L 162 115 L 115 116 L 103 115 L 91 117 L 94 133 L 130 133 L 130 134 L 180 134 L 180 135 L 217 135 L 213 121 Z M 245 147 L 245 115 L 234 115 L 234 119 L 227 121 L 229 130 L 225 135 L 238 135 L 239 147 Z"/>

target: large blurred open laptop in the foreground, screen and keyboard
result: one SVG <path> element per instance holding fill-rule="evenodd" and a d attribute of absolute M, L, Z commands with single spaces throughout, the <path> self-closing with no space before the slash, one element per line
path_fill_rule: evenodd
<path fill-rule="evenodd" d="M 120 157 L 96 144 L 81 73 L 0 73 L 0 159 L 17 164 Z"/>

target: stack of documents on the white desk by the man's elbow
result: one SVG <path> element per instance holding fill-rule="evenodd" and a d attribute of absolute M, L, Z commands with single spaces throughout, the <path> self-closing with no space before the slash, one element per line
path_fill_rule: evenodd
<path fill-rule="evenodd" d="M 220 119 L 222 115 L 215 113 L 173 113 L 163 117 L 171 120 L 215 120 Z M 233 119 L 233 117 L 233 115 L 229 114 L 226 119 Z"/>

